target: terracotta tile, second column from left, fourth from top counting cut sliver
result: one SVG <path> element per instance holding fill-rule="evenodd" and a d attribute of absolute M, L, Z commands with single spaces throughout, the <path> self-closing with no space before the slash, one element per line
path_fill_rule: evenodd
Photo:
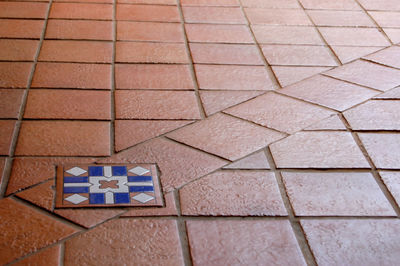
<path fill-rule="evenodd" d="M 46 40 L 39 61 L 111 63 L 112 53 L 111 42 Z"/>

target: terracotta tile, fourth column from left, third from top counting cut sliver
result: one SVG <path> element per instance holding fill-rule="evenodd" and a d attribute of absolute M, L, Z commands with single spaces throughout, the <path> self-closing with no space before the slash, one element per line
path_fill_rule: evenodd
<path fill-rule="evenodd" d="M 186 24 L 189 42 L 254 43 L 245 25 Z"/>

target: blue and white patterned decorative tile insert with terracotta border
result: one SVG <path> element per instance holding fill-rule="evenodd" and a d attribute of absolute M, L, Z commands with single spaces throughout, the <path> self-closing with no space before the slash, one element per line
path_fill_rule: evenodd
<path fill-rule="evenodd" d="M 56 208 L 114 206 L 163 206 L 156 166 L 58 167 Z"/>

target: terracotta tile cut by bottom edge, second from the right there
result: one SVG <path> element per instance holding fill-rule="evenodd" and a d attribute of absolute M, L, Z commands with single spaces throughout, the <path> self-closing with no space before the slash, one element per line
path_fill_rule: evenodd
<path fill-rule="evenodd" d="M 187 228 L 194 265 L 306 265 L 287 221 L 188 221 Z"/>

